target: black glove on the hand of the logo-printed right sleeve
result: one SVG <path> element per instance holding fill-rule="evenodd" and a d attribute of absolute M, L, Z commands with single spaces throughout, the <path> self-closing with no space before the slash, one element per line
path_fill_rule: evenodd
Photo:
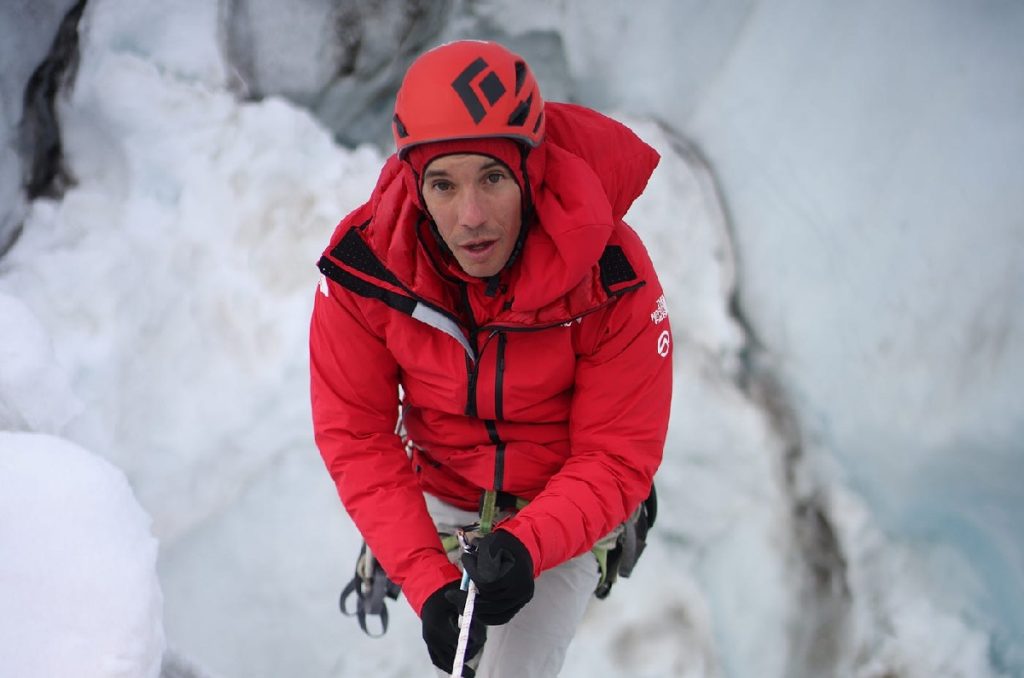
<path fill-rule="evenodd" d="M 512 533 L 498 529 L 462 555 L 462 565 L 476 582 L 473 619 L 489 626 L 508 624 L 534 597 L 534 559 Z"/>

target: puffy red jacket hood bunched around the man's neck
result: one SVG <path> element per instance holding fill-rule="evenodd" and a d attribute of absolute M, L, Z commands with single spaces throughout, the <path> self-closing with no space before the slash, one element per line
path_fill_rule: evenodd
<path fill-rule="evenodd" d="M 511 297 L 508 307 L 518 313 L 556 301 L 591 277 L 659 160 L 628 127 L 590 109 L 548 102 L 545 116 L 547 136 L 525 165 L 535 216 L 523 224 L 528 230 L 517 260 L 503 273 Z M 342 220 L 328 252 L 357 226 L 403 285 L 427 299 L 443 298 L 437 245 L 418 197 L 412 167 L 392 155 L 370 201 Z"/>

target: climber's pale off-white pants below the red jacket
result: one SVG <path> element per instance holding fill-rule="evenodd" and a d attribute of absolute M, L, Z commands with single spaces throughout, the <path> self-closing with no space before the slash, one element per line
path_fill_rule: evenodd
<path fill-rule="evenodd" d="M 451 533 L 479 520 L 476 513 L 430 495 L 426 498 L 438 532 Z M 470 663 L 479 661 L 477 678 L 557 676 L 599 578 L 597 559 L 590 551 L 542 573 L 534 582 L 534 598 L 512 621 L 487 627 L 483 650 Z M 449 674 L 437 670 L 437 675 Z"/>

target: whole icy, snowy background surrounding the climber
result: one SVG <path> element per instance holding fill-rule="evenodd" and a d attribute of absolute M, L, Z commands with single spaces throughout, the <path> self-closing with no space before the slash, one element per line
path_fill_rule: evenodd
<path fill-rule="evenodd" d="M 89 0 L 60 71 L 81 4 L 0 4 L 0 675 L 425 675 L 335 608 L 305 339 L 463 36 L 663 154 L 660 519 L 562 675 L 1024 675 L 1024 5 Z"/>

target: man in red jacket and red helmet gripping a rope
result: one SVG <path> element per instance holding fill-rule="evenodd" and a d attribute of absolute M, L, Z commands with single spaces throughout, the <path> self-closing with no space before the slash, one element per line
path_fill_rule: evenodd
<path fill-rule="evenodd" d="M 554 676 L 600 577 L 591 549 L 662 460 L 671 332 L 622 220 L 658 157 L 600 114 L 545 104 L 521 57 L 478 41 L 413 63 L 393 131 L 319 262 L 316 442 L 445 671 L 465 594 L 438 532 L 497 498 L 462 558 L 478 589 L 467 655 L 488 678 Z"/>

